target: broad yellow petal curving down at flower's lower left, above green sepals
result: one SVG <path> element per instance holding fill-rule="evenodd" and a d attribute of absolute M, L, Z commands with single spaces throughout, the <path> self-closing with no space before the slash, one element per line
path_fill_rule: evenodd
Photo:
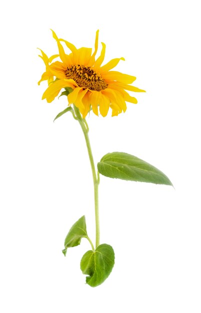
<path fill-rule="evenodd" d="M 70 83 L 69 80 L 72 79 L 58 79 L 53 81 L 48 88 L 44 91 L 42 95 L 42 100 L 46 98 L 47 102 L 51 102 L 55 96 L 58 94 L 61 88 L 63 87 L 71 87 L 74 88 L 74 85 Z"/>

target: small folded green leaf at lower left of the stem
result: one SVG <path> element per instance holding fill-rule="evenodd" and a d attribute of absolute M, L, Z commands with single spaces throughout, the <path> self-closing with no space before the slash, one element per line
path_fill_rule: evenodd
<path fill-rule="evenodd" d="M 79 245 L 82 237 L 87 237 L 84 215 L 80 217 L 68 231 L 64 241 L 65 248 L 62 250 L 63 254 L 66 254 L 68 247 Z"/>

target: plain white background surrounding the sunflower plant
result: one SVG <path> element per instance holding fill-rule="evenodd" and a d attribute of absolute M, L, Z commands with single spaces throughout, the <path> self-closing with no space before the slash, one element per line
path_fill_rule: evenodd
<path fill-rule="evenodd" d="M 7 1 L 1 6 L 0 308 L 7 312 L 200 313 L 199 1 Z M 61 253 L 83 214 L 94 240 L 92 179 L 78 123 L 53 123 L 66 98 L 41 100 L 44 65 L 57 53 L 49 28 L 75 46 L 106 43 L 105 62 L 137 77 L 138 104 L 90 114 L 96 162 L 124 151 L 162 170 L 174 188 L 101 176 L 101 242 L 115 265 L 86 285 L 81 245 Z M 98 50 L 98 53 L 100 49 Z"/>

